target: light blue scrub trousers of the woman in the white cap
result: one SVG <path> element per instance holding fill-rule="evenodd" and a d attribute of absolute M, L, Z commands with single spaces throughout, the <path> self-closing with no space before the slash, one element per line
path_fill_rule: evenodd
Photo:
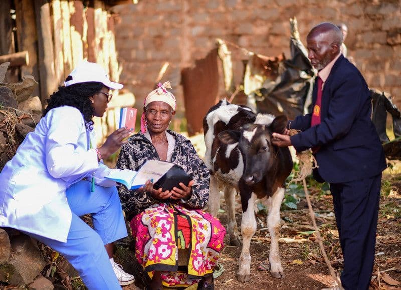
<path fill-rule="evenodd" d="M 91 192 L 91 182 L 82 180 L 68 188 L 66 196 L 72 211 L 66 243 L 26 234 L 62 254 L 88 289 L 121 289 L 104 247 L 128 235 L 116 187 L 96 185 Z M 80 218 L 88 213 L 94 229 Z"/>

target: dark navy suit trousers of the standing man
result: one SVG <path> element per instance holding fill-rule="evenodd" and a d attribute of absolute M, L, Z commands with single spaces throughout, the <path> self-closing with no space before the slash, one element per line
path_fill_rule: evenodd
<path fill-rule="evenodd" d="M 374 265 L 381 174 L 345 183 L 330 183 L 340 237 L 345 290 L 367 290 Z"/>

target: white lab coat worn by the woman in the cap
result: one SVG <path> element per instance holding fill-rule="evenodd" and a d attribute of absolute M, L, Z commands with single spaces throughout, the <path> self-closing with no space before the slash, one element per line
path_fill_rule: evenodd
<path fill-rule="evenodd" d="M 71 209 L 66 189 L 84 177 L 102 186 L 111 169 L 98 163 L 93 131 L 70 106 L 50 110 L 0 173 L 0 226 L 67 241 Z M 94 145 L 95 147 L 95 145 Z"/>

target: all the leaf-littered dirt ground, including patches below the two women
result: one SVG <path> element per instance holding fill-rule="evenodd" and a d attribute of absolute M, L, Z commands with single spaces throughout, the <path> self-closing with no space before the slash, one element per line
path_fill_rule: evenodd
<path fill-rule="evenodd" d="M 374 273 L 371 289 L 401 290 L 401 162 L 392 162 L 391 169 L 384 172 L 380 200 L 379 219 L 377 226 L 377 243 Z M 324 240 L 326 254 L 338 273 L 343 266 L 342 254 L 338 242 L 338 233 L 332 210 L 332 199 L 327 185 L 319 185 L 308 180 L 312 208 L 315 212 L 316 223 Z M 284 204 L 296 204 L 290 208 Z M 257 231 L 251 241 L 251 281 L 237 281 L 238 262 L 241 248 L 230 246 L 228 236 L 225 238 L 225 248 L 222 251 L 220 264 L 223 273 L 215 279 L 215 289 L 322 289 L 331 287 L 334 279 L 321 257 L 316 235 L 309 216 L 308 205 L 301 184 L 292 184 L 287 189 L 286 200 L 281 210 L 281 231 L 279 239 L 280 257 L 285 278 L 273 278 L 269 272 L 257 270 L 258 265 L 269 257 L 270 237 L 266 224 L 266 211 L 255 204 Z M 236 219 L 240 228 L 241 202 L 237 196 Z M 225 204 L 222 198 L 219 218 L 224 226 L 227 225 Z M 129 238 L 127 238 L 129 239 Z M 117 245 L 116 261 L 121 263 L 129 273 L 135 273 L 133 250 L 129 242 Z M 45 247 L 47 248 L 47 247 Z M 43 275 L 48 277 L 55 289 L 84 289 L 79 279 L 74 278 L 73 269 L 63 266 L 63 258 L 52 259 L 51 249 L 44 250 L 48 266 L 56 271 L 49 276 L 49 267 L 45 267 Z M 52 262 L 53 260 L 53 262 Z M 65 265 L 65 264 L 64 264 Z M 140 280 L 140 277 L 137 277 Z M 69 287 L 66 285 L 69 284 Z M 137 286 L 140 286 L 136 282 Z M 0 284 L 0 288 L 5 285 Z M 5 286 L 11 289 L 10 286 Z M 143 288 L 143 287 L 141 287 Z M 138 289 L 134 285 L 123 287 L 124 290 Z M 196 289 L 191 287 L 190 290 Z"/>

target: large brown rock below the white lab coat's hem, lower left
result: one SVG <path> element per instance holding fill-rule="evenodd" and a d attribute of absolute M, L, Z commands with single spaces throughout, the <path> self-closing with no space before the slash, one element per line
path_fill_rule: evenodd
<path fill-rule="evenodd" d="M 0 266 L 0 281 L 17 286 L 32 283 L 46 263 L 41 252 L 27 235 L 19 235 L 11 240 L 11 257 Z"/>

